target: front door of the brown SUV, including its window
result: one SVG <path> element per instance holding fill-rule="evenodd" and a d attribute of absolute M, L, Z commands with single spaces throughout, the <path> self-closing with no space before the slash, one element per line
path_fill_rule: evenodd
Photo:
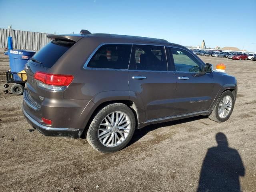
<path fill-rule="evenodd" d="M 177 80 L 175 114 L 208 110 L 213 99 L 212 73 L 204 73 L 204 65 L 187 50 L 169 47 L 169 53 Z"/>

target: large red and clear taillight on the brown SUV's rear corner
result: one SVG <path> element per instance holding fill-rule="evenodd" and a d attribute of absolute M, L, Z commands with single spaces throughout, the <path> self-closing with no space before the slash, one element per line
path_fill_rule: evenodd
<path fill-rule="evenodd" d="M 38 80 L 38 86 L 40 86 L 41 88 L 53 91 L 61 91 L 70 85 L 70 83 L 74 79 L 74 76 L 50 74 L 37 71 L 34 74 L 34 78 Z"/>

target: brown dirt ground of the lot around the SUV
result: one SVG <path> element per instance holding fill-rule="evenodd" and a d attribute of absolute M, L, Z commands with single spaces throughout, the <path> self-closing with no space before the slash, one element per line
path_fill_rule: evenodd
<path fill-rule="evenodd" d="M 255 192 L 256 61 L 200 57 L 214 66 L 226 64 L 226 72 L 237 78 L 238 97 L 227 122 L 200 116 L 147 126 L 128 147 L 101 154 L 86 139 L 30 132 L 22 96 L 3 93 L 9 66 L 0 55 L 0 191 L 193 192 L 204 181 L 215 191 L 240 186 Z M 216 147 L 218 132 L 228 146 Z"/>

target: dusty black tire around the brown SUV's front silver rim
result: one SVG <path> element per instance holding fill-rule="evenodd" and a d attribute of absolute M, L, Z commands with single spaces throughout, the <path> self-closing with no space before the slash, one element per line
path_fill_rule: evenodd
<path fill-rule="evenodd" d="M 220 106 L 220 102 L 222 102 L 222 99 L 226 96 L 230 96 L 231 97 L 231 100 L 232 100 L 232 106 L 230 108 L 230 112 L 228 113 L 228 115 L 226 117 L 220 117 L 221 114 L 219 114 L 219 108 L 221 107 Z M 233 109 L 234 109 L 234 104 L 235 104 L 235 98 L 234 98 L 234 95 L 232 94 L 231 91 L 225 91 L 221 94 L 218 102 L 216 103 L 214 109 L 212 110 L 212 113 L 208 116 L 209 119 L 213 120 L 213 121 L 216 121 L 216 122 L 225 122 L 226 120 L 228 120 L 230 118 L 230 115 L 232 114 L 233 112 Z"/>

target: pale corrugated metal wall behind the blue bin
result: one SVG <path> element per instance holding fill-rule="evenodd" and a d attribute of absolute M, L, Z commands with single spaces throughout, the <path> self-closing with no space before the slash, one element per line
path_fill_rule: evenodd
<path fill-rule="evenodd" d="M 14 49 L 40 50 L 50 40 L 46 33 L 0 28 L 0 48 L 7 47 L 7 37 L 12 37 Z"/>

